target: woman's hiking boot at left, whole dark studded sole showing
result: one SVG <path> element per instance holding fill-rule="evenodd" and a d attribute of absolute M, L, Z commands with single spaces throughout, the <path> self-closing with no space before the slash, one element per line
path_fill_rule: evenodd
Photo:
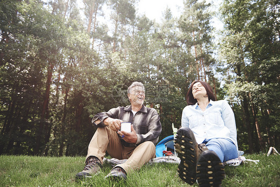
<path fill-rule="evenodd" d="M 174 143 L 178 157 L 181 159 L 177 169 L 179 177 L 189 185 L 193 185 L 196 180 L 199 155 L 208 149 L 205 144 L 197 144 L 193 132 L 188 127 L 181 127 L 177 131 Z"/>

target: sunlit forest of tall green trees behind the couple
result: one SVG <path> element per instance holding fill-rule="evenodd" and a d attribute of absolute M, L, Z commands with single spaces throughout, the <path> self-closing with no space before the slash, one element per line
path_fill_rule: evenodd
<path fill-rule="evenodd" d="M 129 105 L 134 81 L 161 140 L 180 127 L 194 80 L 231 105 L 239 150 L 279 151 L 279 1 L 223 0 L 216 11 L 183 1 L 158 22 L 137 13 L 139 0 L 0 0 L 0 154 L 86 155 L 93 116 Z"/>

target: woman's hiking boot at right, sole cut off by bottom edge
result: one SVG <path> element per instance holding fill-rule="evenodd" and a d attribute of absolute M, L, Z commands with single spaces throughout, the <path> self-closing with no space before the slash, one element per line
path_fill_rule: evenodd
<path fill-rule="evenodd" d="M 220 187 L 224 178 L 224 166 L 217 154 L 214 151 L 203 152 L 196 168 L 199 187 Z"/>

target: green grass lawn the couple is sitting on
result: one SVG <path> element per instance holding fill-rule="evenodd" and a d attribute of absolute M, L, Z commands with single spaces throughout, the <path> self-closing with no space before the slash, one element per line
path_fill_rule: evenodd
<path fill-rule="evenodd" d="M 280 187 L 280 156 L 245 157 L 260 162 L 226 166 L 223 187 Z M 84 162 L 84 157 L 0 156 L 0 187 L 189 187 L 173 164 L 145 165 L 120 184 L 104 180 L 112 169 L 104 164 L 101 175 L 76 183 L 75 175 L 83 170 Z"/>

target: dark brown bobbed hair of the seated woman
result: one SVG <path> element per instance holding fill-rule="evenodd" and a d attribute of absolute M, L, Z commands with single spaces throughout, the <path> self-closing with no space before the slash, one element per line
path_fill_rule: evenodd
<path fill-rule="evenodd" d="M 209 101 L 210 101 L 210 99 L 212 101 L 215 101 L 216 99 L 215 99 L 212 87 L 202 80 L 195 80 L 191 83 L 188 93 L 186 95 L 187 105 L 194 105 L 195 103 L 197 103 L 197 100 L 194 99 L 194 97 L 192 95 L 192 87 L 197 82 L 200 82 L 202 84 L 202 86 L 205 88 Z"/>

